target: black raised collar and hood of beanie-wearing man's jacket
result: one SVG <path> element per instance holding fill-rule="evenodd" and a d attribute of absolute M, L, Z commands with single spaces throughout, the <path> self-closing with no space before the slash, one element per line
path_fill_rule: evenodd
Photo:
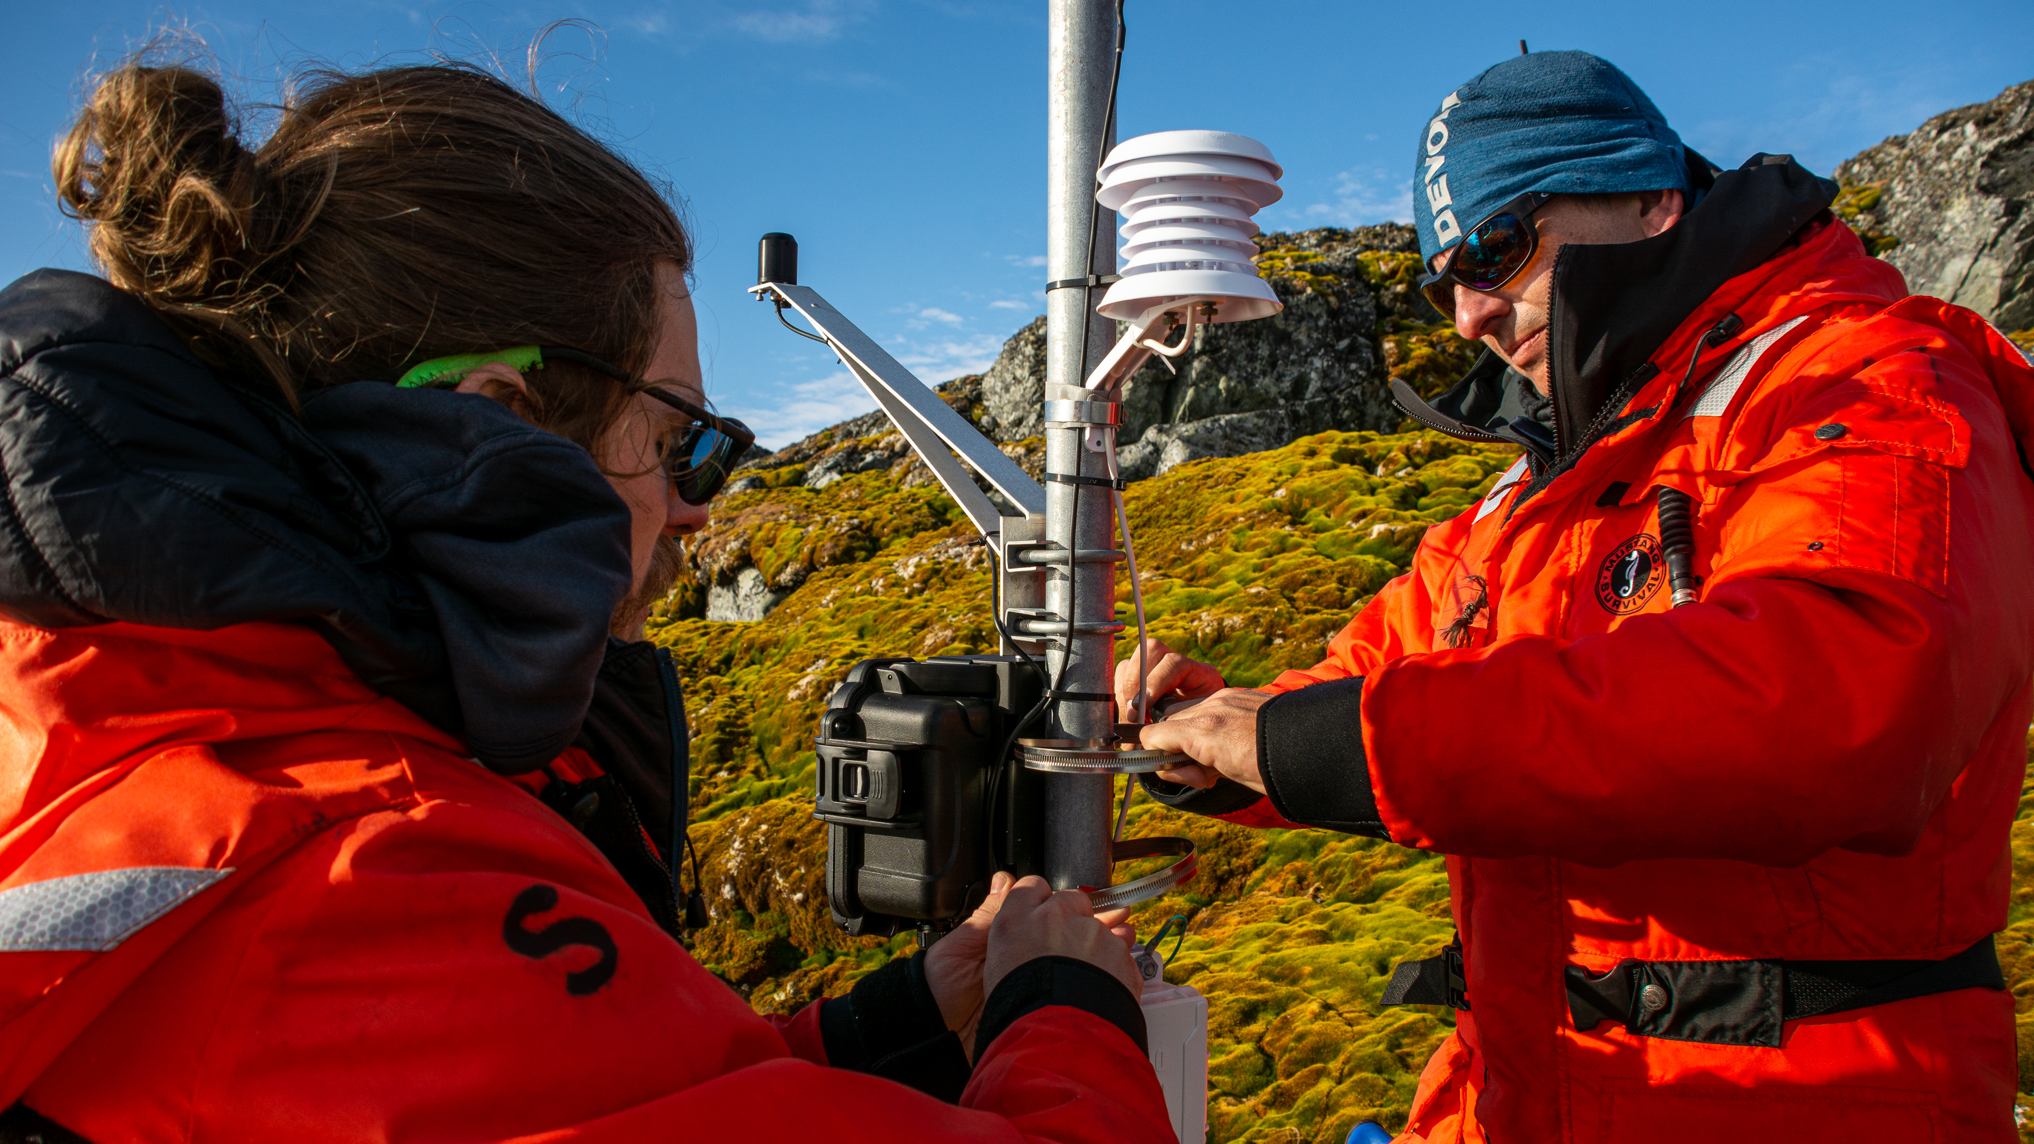
<path fill-rule="evenodd" d="M 1554 444 L 1519 434 L 1519 375 L 1485 350 L 1462 381 L 1434 401 L 1405 383 L 1391 395 L 1416 421 L 1469 440 L 1523 444 L 1542 462 L 1568 462 L 1589 448 L 1603 411 L 1654 377 L 1650 358 L 1723 283 L 1778 254 L 1837 197 L 1837 183 L 1790 155 L 1753 155 L 1682 220 L 1652 238 L 1568 244 L 1554 259 L 1548 316 Z"/>

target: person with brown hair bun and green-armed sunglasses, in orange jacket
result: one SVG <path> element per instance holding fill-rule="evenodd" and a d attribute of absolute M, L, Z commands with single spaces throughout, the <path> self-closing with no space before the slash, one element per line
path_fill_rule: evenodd
<path fill-rule="evenodd" d="M 110 281 L 0 291 L 0 1134 L 1172 1140 L 1082 894 L 787 1018 L 679 945 L 635 633 L 753 438 L 649 179 L 454 65 L 254 151 L 122 65 L 55 175 Z"/>

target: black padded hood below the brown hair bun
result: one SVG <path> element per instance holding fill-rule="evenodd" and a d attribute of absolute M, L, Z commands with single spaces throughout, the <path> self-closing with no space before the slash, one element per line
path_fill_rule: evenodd
<path fill-rule="evenodd" d="M 498 771 L 572 743 L 631 586 L 629 509 L 580 446 L 382 383 L 299 419 L 92 275 L 0 291 L 0 613 L 299 621 Z"/>

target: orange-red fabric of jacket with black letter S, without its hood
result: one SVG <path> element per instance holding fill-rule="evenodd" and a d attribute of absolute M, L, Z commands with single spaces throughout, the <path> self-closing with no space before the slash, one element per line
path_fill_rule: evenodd
<path fill-rule="evenodd" d="M 116 1140 L 1170 1140 L 1017 1018 L 960 1105 L 828 1069 L 305 625 L 0 621 L 0 1107 Z"/>

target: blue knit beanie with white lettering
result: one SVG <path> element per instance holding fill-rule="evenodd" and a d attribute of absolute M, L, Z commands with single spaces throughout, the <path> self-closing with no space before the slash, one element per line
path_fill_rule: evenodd
<path fill-rule="evenodd" d="M 1536 51 L 1440 102 L 1414 151 L 1412 214 L 1432 265 L 1525 191 L 1662 189 L 1688 189 L 1688 161 L 1646 92 L 1587 51 Z"/>

